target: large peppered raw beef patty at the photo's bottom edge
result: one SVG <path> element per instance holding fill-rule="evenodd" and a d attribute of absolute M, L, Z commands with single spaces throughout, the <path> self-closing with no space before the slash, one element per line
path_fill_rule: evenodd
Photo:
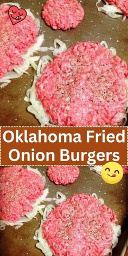
<path fill-rule="evenodd" d="M 74 195 L 48 214 L 42 232 L 55 256 L 103 256 L 112 246 L 112 209 L 92 195 Z"/>

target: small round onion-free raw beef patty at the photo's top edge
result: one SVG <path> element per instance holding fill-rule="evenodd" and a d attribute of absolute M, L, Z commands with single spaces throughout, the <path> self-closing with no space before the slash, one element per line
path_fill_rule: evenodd
<path fill-rule="evenodd" d="M 53 29 L 75 28 L 84 18 L 84 9 L 77 0 L 48 0 L 42 17 Z"/>

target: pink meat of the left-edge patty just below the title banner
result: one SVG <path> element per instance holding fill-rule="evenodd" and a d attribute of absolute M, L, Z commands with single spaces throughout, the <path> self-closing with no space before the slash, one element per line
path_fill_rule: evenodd
<path fill-rule="evenodd" d="M 33 212 L 32 204 L 43 194 L 40 175 L 22 167 L 0 168 L 0 220 L 16 222 Z"/>

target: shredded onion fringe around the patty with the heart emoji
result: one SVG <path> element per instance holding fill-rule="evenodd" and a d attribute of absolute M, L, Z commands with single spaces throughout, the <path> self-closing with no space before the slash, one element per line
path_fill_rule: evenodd
<path fill-rule="evenodd" d="M 16 5 L 18 8 L 20 8 L 20 4 L 18 4 L 18 3 L 9 2 L 9 3 L 4 3 L 2 5 Z M 37 24 L 38 29 L 40 29 L 39 18 L 35 18 L 29 9 L 27 9 L 26 11 L 27 11 L 27 14 L 33 18 L 33 20 Z M 19 78 L 21 75 L 23 75 L 23 73 L 28 74 L 28 72 L 26 72 L 26 71 L 29 68 L 29 66 L 33 67 L 35 70 L 37 69 L 37 65 L 36 65 L 35 61 L 38 61 L 40 59 L 40 57 L 33 56 L 33 54 L 42 49 L 41 45 L 42 45 L 43 41 L 44 41 L 44 35 L 41 34 L 40 36 L 37 37 L 37 42 L 33 46 L 29 47 L 28 52 L 26 54 L 22 55 L 23 60 L 24 60 L 23 65 L 13 66 L 12 67 L 13 71 L 8 72 L 7 74 L 4 75 L 3 78 L 0 79 L 0 84 L 1 84 L 0 88 L 4 88 L 8 84 L 10 84 L 11 79 Z"/>

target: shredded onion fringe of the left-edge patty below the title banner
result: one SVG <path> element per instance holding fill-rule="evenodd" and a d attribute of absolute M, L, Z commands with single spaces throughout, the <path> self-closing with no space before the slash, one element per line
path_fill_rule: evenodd
<path fill-rule="evenodd" d="M 44 184 L 46 183 L 46 178 L 41 175 L 41 173 L 38 169 L 31 168 L 28 165 L 27 170 L 28 171 L 33 171 L 36 174 L 40 175 Z M 42 209 L 44 209 L 46 206 L 44 204 L 41 204 L 41 203 L 46 200 L 46 197 L 47 197 L 48 193 L 49 193 L 48 188 L 44 189 L 43 194 L 39 198 L 37 198 L 35 203 L 31 204 L 33 206 L 33 212 L 25 213 L 24 216 L 20 217 L 20 219 L 18 221 L 10 222 L 10 221 L 0 220 L 0 230 L 4 230 L 5 226 L 16 226 L 15 229 L 18 229 L 21 226 L 23 226 L 24 222 L 31 221 L 33 218 L 35 218 L 37 213 L 40 213 L 41 215 L 43 215 L 43 210 Z"/>

